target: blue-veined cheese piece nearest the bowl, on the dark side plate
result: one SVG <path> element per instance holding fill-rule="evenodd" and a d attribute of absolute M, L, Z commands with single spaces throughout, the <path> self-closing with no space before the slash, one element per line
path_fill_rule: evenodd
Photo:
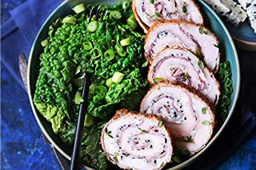
<path fill-rule="evenodd" d="M 234 26 L 238 27 L 240 23 L 244 22 L 247 17 L 246 12 L 241 5 L 232 0 L 204 0 L 210 5 L 218 14 L 226 16 L 227 20 Z"/>

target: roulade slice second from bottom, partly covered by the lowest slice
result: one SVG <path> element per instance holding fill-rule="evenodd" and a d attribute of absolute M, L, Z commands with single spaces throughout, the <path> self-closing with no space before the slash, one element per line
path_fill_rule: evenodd
<path fill-rule="evenodd" d="M 205 147 L 215 127 L 215 106 L 186 84 L 165 81 L 144 96 L 141 113 L 160 116 L 172 133 L 175 147 L 194 154 Z"/>

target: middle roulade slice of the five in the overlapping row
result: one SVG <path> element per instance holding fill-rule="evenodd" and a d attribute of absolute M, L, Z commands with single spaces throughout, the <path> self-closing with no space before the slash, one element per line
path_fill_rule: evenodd
<path fill-rule="evenodd" d="M 157 78 L 171 82 L 182 81 L 203 93 L 215 105 L 220 96 L 220 84 L 203 62 L 186 48 L 172 46 L 154 57 L 148 70 L 147 81 L 154 86 Z"/>

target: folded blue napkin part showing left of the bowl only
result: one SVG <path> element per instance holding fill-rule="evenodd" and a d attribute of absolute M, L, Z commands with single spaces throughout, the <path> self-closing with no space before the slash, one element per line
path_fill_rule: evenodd
<path fill-rule="evenodd" d="M 11 11 L 11 18 L 1 26 L 1 61 L 25 88 L 19 71 L 19 55 L 29 59 L 34 39 L 41 26 L 63 0 L 28 0 Z"/>

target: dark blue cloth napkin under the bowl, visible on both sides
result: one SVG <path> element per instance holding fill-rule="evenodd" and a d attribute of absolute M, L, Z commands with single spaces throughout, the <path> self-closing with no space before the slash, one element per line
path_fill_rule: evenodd
<path fill-rule="evenodd" d="M 24 87 L 19 71 L 19 54 L 28 60 L 34 39 L 51 12 L 63 0 L 28 0 L 11 11 L 1 28 L 1 61 Z M 184 169 L 211 169 L 230 153 L 255 125 L 256 52 L 238 50 L 241 90 L 236 109 L 225 130 L 206 153 Z"/>

